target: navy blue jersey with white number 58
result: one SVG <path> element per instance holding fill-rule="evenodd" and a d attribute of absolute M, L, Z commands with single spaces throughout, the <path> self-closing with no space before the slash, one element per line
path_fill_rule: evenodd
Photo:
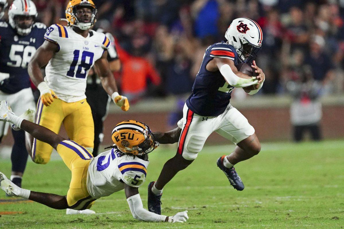
<path fill-rule="evenodd" d="M 0 72 L 9 78 L 0 79 L 0 90 L 13 94 L 30 87 L 28 63 L 44 42 L 46 26 L 35 23 L 31 32 L 20 36 L 6 22 L 0 22 Z"/>

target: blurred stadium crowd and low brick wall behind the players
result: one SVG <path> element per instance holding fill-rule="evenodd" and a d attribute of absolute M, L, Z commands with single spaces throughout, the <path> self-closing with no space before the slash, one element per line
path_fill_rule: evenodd
<path fill-rule="evenodd" d="M 64 23 L 59 19 L 65 17 L 68 1 L 34 2 L 37 21 L 47 26 Z M 222 41 L 228 25 L 237 17 L 257 21 L 264 34 L 257 59 L 266 73 L 264 87 L 254 96 L 236 89 L 231 99 L 255 127 L 260 140 L 292 140 L 290 105 L 295 99 L 290 88 L 305 81 L 320 88 L 317 98 L 323 106 L 323 138 L 344 137 L 344 1 L 94 2 L 98 8 L 96 26 L 116 37 L 122 68 L 114 77 L 130 102 L 126 113 L 110 104 L 104 145 L 111 144 L 112 127 L 124 119 L 146 122 L 153 131 L 175 127 L 204 50 Z M 307 103 L 307 96 L 301 100 Z M 216 134 L 210 139 L 208 144 L 228 144 Z M 13 141 L 8 136 L 3 142 L 1 147 L 11 146 Z"/>

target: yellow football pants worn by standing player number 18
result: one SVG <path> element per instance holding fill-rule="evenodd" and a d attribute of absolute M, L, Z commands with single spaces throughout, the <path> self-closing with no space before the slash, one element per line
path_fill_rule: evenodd
<path fill-rule="evenodd" d="M 78 142 L 88 151 L 93 151 L 94 124 L 91 108 L 86 99 L 67 103 L 54 99 L 50 106 L 45 106 L 39 99 L 37 103 L 36 124 L 44 126 L 56 134 L 61 125 L 67 131 L 69 139 Z M 33 140 L 32 158 L 37 164 L 46 164 L 50 160 L 53 148 L 37 139 Z"/>

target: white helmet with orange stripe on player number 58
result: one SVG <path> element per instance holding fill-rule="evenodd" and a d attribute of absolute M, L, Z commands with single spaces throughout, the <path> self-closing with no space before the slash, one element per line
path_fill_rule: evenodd
<path fill-rule="evenodd" d="M 15 16 L 32 16 L 32 24 L 29 28 L 20 28 L 15 23 Z M 17 30 L 17 33 L 21 36 L 26 36 L 31 32 L 33 21 L 37 16 L 36 6 L 31 0 L 14 0 L 10 9 L 8 10 L 8 20 L 10 25 Z"/>

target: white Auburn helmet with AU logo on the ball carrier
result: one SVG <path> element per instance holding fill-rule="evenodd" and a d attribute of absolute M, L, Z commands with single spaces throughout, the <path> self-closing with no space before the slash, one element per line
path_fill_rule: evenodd
<path fill-rule="evenodd" d="M 229 25 L 225 37 L 228 44 L 235 48 L 240 59 L 248 62 L 257 57 L 263 33 L 257 22 L 248 18 L 237 18 Z"/>

